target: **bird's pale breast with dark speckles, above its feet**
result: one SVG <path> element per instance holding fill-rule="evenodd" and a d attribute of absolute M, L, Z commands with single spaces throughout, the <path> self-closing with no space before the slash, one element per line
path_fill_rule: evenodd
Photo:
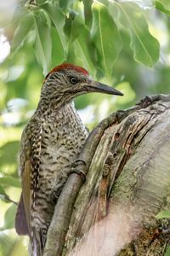
<path fill-rule="evenodd" d="M 43 125 L 41 160 L 49 168 L 64 168 L 71 164 L 80 153 L 88 133 L 82 123 L 61 122 Z"/>

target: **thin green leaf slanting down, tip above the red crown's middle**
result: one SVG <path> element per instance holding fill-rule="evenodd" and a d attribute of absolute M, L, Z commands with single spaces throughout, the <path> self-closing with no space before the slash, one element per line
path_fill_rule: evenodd
<path fill-rule="evenodd" d="M 60 48 L 60 50 L 62 50 L 63 55 L 65 55 L 65 51 L 67 49 L 67 42 L 65 38 L 65 33 L 63 31 L 63 27 L 65 25 L 65 15 L 62 14 L 57 4 L 45 3 L 42 4 L 41 8 L 44 9 L 44 11 L 48 14 L 49 18 L 52 20 L 52 23 L 56 28 L 56 32 L 58 33 L 58 38 L 60 40 L 59 44 L 62 45 L 62 48 Z"/>

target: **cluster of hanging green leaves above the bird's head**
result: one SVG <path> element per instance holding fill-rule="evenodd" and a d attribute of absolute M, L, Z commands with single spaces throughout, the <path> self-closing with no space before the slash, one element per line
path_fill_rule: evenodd
<path fill-rule="evenodd" d="M 12 54 L 27 40 L 33 44 L 44 74 L 63 61 L 71 61 L 86 67 L 94 76 L 105 74 L 111 79 L 122 51 L 123 32 L 126 32 L 133 59 L 153 67 L 159 59 L 160 47 L 144 16 L 144 9 L 151 3 L 141 1 L 140 6 L 137 3 L 139 1 L 26 2 L 20 8 L 20 19 L 18 9 L 14 15 L 17 26 L 11 43 Z M 165 9 L 158 1 L 156 8 Z"/>

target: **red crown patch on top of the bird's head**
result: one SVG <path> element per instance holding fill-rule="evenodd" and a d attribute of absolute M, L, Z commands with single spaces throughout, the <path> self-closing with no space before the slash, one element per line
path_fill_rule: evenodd
<path fill-rule="evenodd" d="M 89 76 L 89 73 L 86 69 L 82 68 L 82 67 L 78 67 L 78 66 L 75 66 L 73 64 L 70 64 L 70 63 L 63 63 L 57 67 L 54 67 L 49 73 L 48 75 L 45 77 L 45 80 L 48 78 L 48 76 L 51 74 L 51 73 L 54 73 L 54 72 L 60 72 L 62 70 L 74 70 L 74 71 L 77 71 L 77 73 L 82 73 L 86 76 Z"/>

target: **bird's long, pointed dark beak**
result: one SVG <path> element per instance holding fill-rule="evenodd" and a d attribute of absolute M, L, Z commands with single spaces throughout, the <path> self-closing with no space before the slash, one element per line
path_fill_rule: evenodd
<path fill-rule="evenodd" d="M 88 91 L 123 96 L 121 91 L 116 90 L 116 89 L 112 88 L 111 86 L 108 86 L 106 84 L 102 84 L 99 82 L 92 82 L 92 84 L 88 84 Z"/>

